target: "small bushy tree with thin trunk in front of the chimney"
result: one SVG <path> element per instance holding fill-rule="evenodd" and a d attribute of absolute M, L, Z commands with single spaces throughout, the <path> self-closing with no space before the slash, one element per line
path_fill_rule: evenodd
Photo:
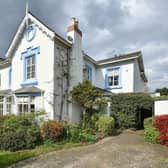
<path fill-rule="evenodd" d="M 83 127 L 86 126 L 86 115 L 90 118 L 92 113 L 100 111 L 106 104 L 102 93 L 87 80 L 75 86 L 71 95 L 72 99 L 82 107 Z"/>

